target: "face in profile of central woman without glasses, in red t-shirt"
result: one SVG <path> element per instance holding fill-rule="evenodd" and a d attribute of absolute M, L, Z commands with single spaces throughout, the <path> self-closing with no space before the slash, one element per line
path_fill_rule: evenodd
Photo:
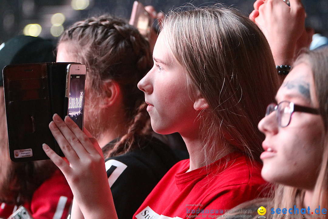
<path fill-rule="evenodd" d="M 187 83 L 187 71 L 173 58 L 164 37 L 159 34 L 153 52 L 154 66 L 138 83 L 145 93 L 153 130 L 159 134 L 179 132 L 195 135 L 198 112 L 195 92 Z M 197 132 L 199 130 L 196 130 Z"/>

